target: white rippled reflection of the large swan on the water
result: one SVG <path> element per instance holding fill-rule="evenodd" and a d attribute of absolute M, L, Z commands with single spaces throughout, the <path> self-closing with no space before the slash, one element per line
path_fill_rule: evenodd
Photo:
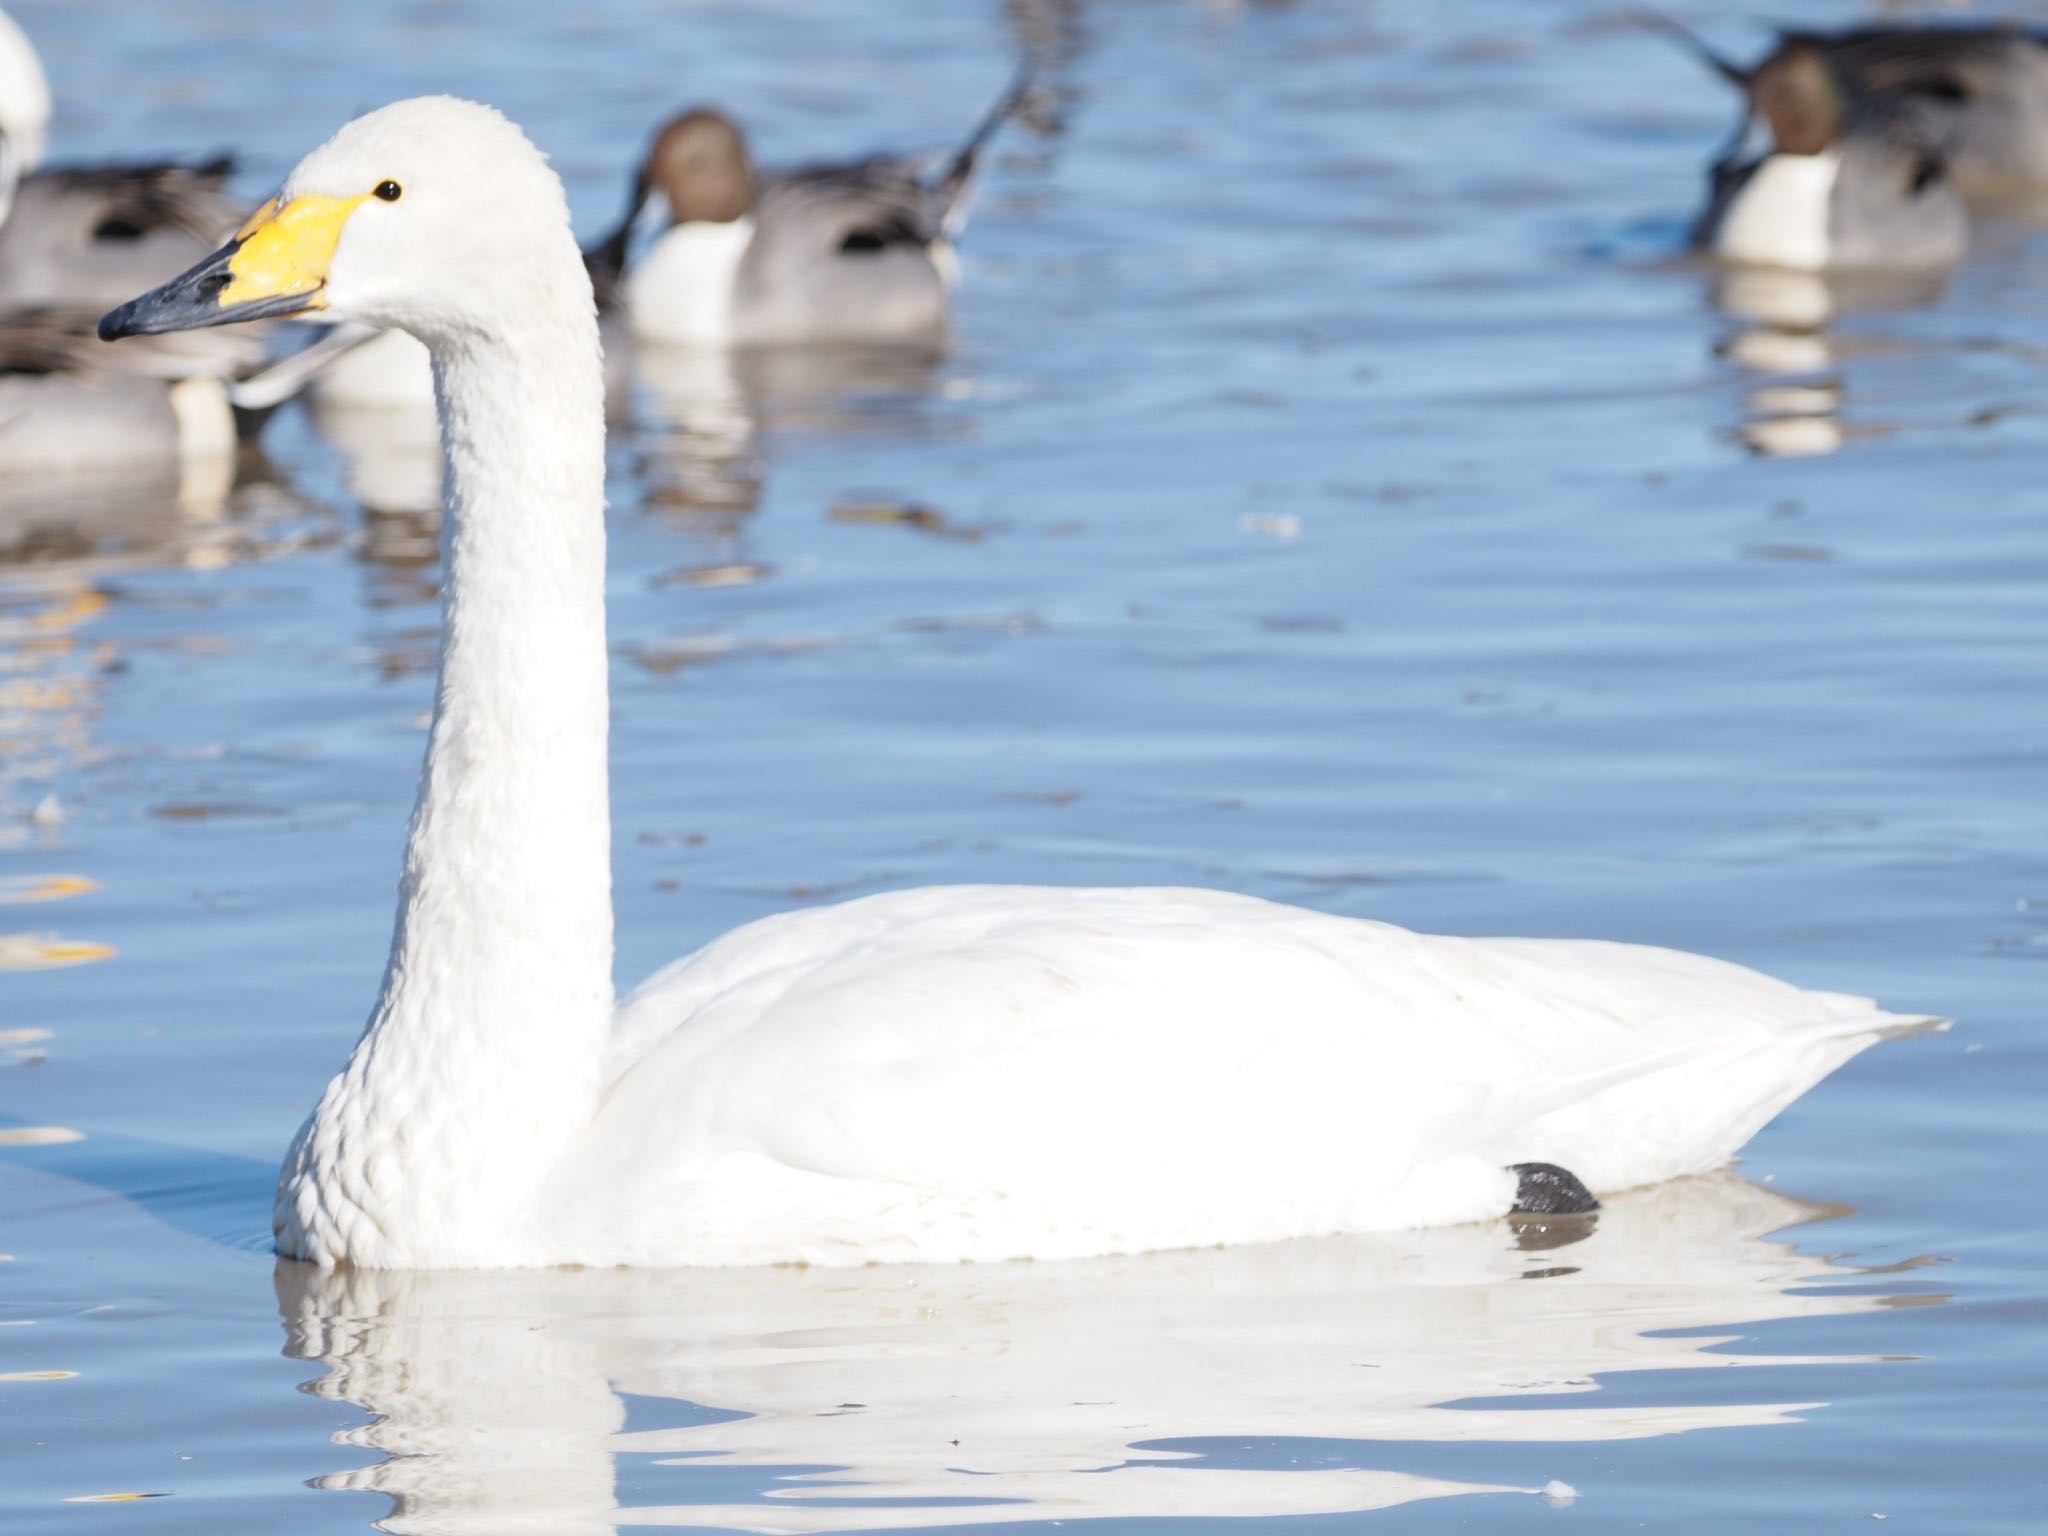
<path fill-rule="evenodd" d="M 1593 1378 L 1757 1362 L 1673 1331 L 1884 1307 L 1815 1290 L 1855 1272 L 1767 1237 L 1823 1214 L 1720 1174 L 1618 1196 L 1587 1231 L 950 1268 L 281 1264 L 276 1282 L 287 1354 L 326 1368 L 311 1391 L 373 1415 L 338 1444 L 383 1452 L 319 1487 L 391 1497 L 395 1536 L 1339 1513 L 1511 1489 L 1155 1442 L 1790 1423 L 1823 1405 L 1604 1405 Z M 629 1430 L 629 1397 L 668 1399 L 635 1413 L 668 1427 Z M 621 1470 L 678 1501 L 621 1507 Z"/>

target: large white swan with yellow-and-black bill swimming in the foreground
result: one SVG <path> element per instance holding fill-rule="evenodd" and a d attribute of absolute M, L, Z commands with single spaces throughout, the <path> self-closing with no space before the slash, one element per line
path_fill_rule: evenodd
<path fill-rule="evenodd" d="M 1653 948 L 1217 891 L 926 889 L 750 924 L 612 1006 L 604 418 L 561 184 L 498 113 L 307 156 L 109 338 L 412 330 L 444 639 L 383 991 L 293 1145 L 324 1266 L 1001 1260 L 1497 1217 L 1724 1161 L 1909 1020 Z"/>

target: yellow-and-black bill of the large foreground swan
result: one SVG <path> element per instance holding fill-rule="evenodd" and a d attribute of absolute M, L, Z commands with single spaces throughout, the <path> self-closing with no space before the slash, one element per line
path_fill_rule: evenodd
<path fill-rule="evenodd" d="M 100 340 L 326 309 L 328 264 L 360 197 L 270 199 L 236 238 L 139 299 L 100 317 Z"/>

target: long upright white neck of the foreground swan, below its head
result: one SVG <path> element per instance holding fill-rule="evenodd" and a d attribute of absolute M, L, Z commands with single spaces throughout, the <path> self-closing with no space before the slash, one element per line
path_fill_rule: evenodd
<path fill-rule="evenodd" d="M 573 256 L 573 246 L 569 248 Z M 383 991 L 285 1169 L 305 1257 L 518 1262 L 612 1012 L 604 399 L 582 268 L 434 344 L 446 571 Z"/>

